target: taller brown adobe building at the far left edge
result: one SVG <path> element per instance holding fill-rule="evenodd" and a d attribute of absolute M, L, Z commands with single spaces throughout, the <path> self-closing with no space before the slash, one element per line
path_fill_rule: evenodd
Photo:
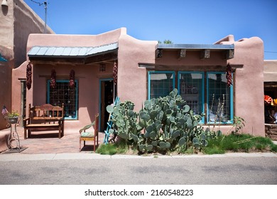
<path fill-rule="evenodd" d="M 24 2 L 20 0 L 0 1 L 0 106 L 11 107 L 11 73 L 26 60 L 26 45 L 30 33 L 44 33 L 43 20 Z M 48 26 L 47 33 L 54 33 Z M 3 61 L 4 60 L 4 61 Z M 18 79 L 19 85 L 24 87 L 26 77 Z M 25 98 L 24 92 L 19 95 Z M 23 99 L 24 100 L 24 99 Z M 23 104 L 16 107 L 23 114 Z M 0 117 L 0 129 L 6 128 L 6 120 Z"/>

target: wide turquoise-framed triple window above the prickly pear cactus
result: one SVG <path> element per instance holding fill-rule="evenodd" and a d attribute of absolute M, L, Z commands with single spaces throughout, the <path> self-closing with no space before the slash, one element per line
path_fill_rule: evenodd
<path fill-rule="evenodd" d="M 176 82 L 193 112 L 205 113 L 202 123 L 232 123 L 233 90 L 227 86 L 225 72 L 178 72 Z M 175 72 L 148 72 L 148 99 L 164 97 L 174 87 Z"/>

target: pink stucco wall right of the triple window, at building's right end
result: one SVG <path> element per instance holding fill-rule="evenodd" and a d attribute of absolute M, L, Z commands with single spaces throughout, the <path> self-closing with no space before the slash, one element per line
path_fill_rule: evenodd
<path fill-rule="evenodd" d="M 246 121 L 244 131 L 264 136 L 264 43 L 261 38 L 234 42 L 230 64 L 243 65 L 235 72 L 234 113 Z"/>

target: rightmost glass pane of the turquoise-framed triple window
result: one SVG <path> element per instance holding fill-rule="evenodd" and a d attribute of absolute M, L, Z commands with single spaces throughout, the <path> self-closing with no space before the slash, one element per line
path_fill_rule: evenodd
<path fill-rule="evenodd" d="M 207 74 L 208 122 L 232 122 L 232 87 L 227 86 L 224 72 Z"/>

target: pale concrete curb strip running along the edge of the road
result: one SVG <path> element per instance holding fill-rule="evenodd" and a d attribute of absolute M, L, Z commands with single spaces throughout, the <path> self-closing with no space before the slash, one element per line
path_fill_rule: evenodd
<path fill-rule="evenodd" d="M 44 160 L 76 160 L 76 159 L 126 159 L 126 158 L 229 158 L 229 157 L 274 157 L 273 153 L 230 153 L 230 154 L 214 154 L 214 155 L 183 155 L 183 156 L 133 156 L 133 155 L 100 155 L 89 153 L 76 154 L 0 154 L 0 162 L 6 161 L 44 161 Z"/>

